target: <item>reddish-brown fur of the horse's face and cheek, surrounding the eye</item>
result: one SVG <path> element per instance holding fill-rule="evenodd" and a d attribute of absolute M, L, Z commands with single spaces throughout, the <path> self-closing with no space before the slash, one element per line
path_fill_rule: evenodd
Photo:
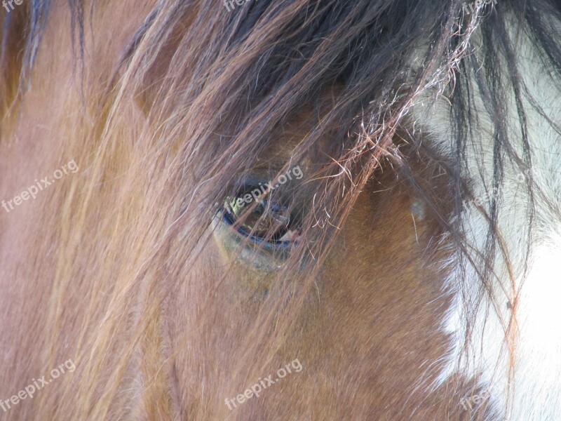
<path fill-rule="evenodd" d="M 143 131 L 154 119 L 153 93 L 107 91 L 155 4 L 103 2 L 87 16 L 83 103 L 81 79 L 69 65 L 69 14 L 57 3 L 33 89 L 20 112 L 2 122 L 1 198 L 69 159 L 80 167 L 34 201 L 0 213 L 0 399 L 69 358 L 76 363 L 74 373 L 2 419 L 465 417 L 459 399 L 471 388 L 463 379 L 430 387 L 447 343 L 438 332 L 447 307 L 444 274 L 428 263 L 442 258 L 431 255 L 442 227 L 428 210 L 424 218 L 412 214 L 419 197 L 383 151 L 372 177 L 357 183 L 362 192 L 305 283 L 243 267 L 209 230 L 198 249 L 186 250 L 199 234 L 189 221 L 203 216 L 177 215 L 191 199 L 181 194 L 196 201 L 195 185 L 164 177 L 180 168 L 182 149 L 155 136 L 156 129 Z M 21 65 L 12 51 L 10 62 Z M 19 83 L 15 73 L 4 74 L 8 102 Z M 318 118 L 317 109 L 304 107 L 288 119 L 276 131 L 276 147 L 263 151 L 252 171 L 280 171 Z M 311 191 L 320 191 L 321 180 L 310 175 L 320 173 L 327 154 L 320 145 L 302 158 Z M 411 158 L 415 175 L 433 186 L 445 212 L 447 189 L 425 158 Z M 187 258 L 190 252 L 196 258 Z M 288 323 L 283 312 L 296 316 Z M 302 372 L 228 410 L 225 398 L 296 358 Z"/>

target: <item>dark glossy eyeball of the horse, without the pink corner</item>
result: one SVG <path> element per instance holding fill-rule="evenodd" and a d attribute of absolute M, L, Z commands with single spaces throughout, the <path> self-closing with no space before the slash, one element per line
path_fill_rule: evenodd
<path fill-rule="evenodd" d="M 283 236 L 290 226 L 290 212 L 285 206 L 271 203 L 266 200 L 260 200 L 257 206 L 254 203 L 237 204 L 237 199 L 229 202 L 229 208 L 236 220 L 243 218 L 240 227 L 245 234 L 253 231 L 253 236 L 265 238 L 271 236 L 272 240 L 279 239 Z M 248 209 L 253 209 L 248 213 Z"/>

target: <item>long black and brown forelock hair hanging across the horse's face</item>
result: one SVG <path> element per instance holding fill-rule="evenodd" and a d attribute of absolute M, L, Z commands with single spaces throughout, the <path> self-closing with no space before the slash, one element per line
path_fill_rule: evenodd
<path fill-rule="evenodd" d="M 527 33 L 550 72 L 559 76 L 559 34 L 551 23 L 561 18 L 557 1 L 499 0 L 498 6 L 482 6 L 471 15 L 460 0 L 256 0 L 235 13 L 224 13 L 219 1 L 160 1 L 102 90 L 79 65 L 84 60 L 85 22 L 88 13 L 95 13 L 95 1 L 89 8 L 83 0 L 69 0 L 69 5 L 83 107 L 95 118 L 90 119 L 93 124 L 76 121 L 71 129 L 86 142 L 66 145 L 88 168 L 87 180 L 72 180 L 65 197 L 48 204 L 51 214 L 62 210 L 63 218 L 60 232 L 45 239 L 57 243 L 59 256 L 47 318 L 46 366 L 68 354 L 62 349 L 59 327 L 70 317 L 61 303 L 76 300 L 73 282 L 95 281 L 78 301 L 86 309 L 76 320 L 79 375 L 58 403 L 46 394 L 36 398 L 41 399 L 43 415 L 57 420 L 124 416 L 135 398 L 126 385 L 136 376 L 153 385 L 145 406 L 151 413 L 165 414 L 154 396 L 168 393 L 158 386 L 168 372 L 159 368 L 173 361 L 163 361 L 163 345 L 147 339 L 149 333 L 158 331 L 160 309 L 180 283 L 189 283 L 201 295 L 201 317 L 177 342 L 188 347 L 189 335 L 197 328 L 212 327 L 204 315 L 217 286 L 201 292 L 189 268 L 210 238 L 210 220 L 224 197 L 238 191 L 238 180 L 255 168 L 264 151 L 278 144 L 279 131 L 304 108 L 315 110 L 318 121 L 279 172 L 302 163 L 305 182 L 302 192 L 292 192 L 293 198 L 313 192 L 302 216 L 303 240 L 274 274 L 266 305 L 245 331 L 246 346 L 239 351 L 243 354 L 236 354 L 240 363 L 232 381 L 243 384 L 264 372 L 294 327 L 295 314 L 339 227 L 384 162 L 417 189 L 447 232 L 447 241 L 461 250 L 465 264 L 478 267 L 480 300 L 466 303 L 469 342 L 469 326 L 482 298 L 494 302 L 492 268 L 501 253 L 497 198 L 487 215 L 488 241 L 481 254 L 466 244 L 458 224 L 462 200 L 470 194 L 466 144 L 478 120 L 474 91 L 485 95 L 485 112 L 493 123 L 494 178 L 489 188 L 497 187 L 505 163 L 521 171 L 532 166 L 527 110 L 522 105 L 529 92 L 507 26 L 514 22 Z M 6 15 L 2 65 L 20 72 L 14 78 L 16 86 L 0 86 L 3 116 L 29 89 L 49 8 L 50 0 L 30 0 L 21 12 Z M 25 53 L 8 55 L 14 46 Z M 522 129 L 522 155 L 515 152 L 509 131 L 505 98 L 512 94 Z M 437 97 L 452 105 L 451 159 L 421 144 L 413 130 L 412 107 Z M 530 102 L 544 115 L 535 101 Z M 146 118 L 132 111 L 133 104 L 142 107 Z M 398 147 L 396 138 L 407 147 Z M 311 160 L 320 143 L 323 154 Z M 412 175 L 408 164 L 414 154 L 445 169 L 454 196 L 452 213 L 443 213 L 434 192 Z M 527 184 L 533 200 L 539 192 L 531 176 Z M 457 290 L 461 293 L 463 287 Z M 506 321 L 507 330 L 510 323 Z M 173 349 L 172 354 L 177 352 Z M 248 368 L 250 360 L 258 363 Z M 136 365 L 141 374 L 131 373 Z M 72 402 L 76 394 L 79 404 L 60 403 Z M 191 407 L 189 419 L 210 419 L 212 406 L 206 405 L 204 412 L 205 397 L 191 399 L 197 406 Z"/>

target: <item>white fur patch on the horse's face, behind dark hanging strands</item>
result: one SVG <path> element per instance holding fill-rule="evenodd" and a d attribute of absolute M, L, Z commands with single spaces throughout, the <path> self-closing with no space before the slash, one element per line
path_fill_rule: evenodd
<path fill-rule="evenodd" d="M 530 93 L 548 114 L 561 124 L 561 91 L 543 69 L 534 47 L 525 35 L 513 41 L 518 48 L 520 74 L 525 79 Z M 473 87 L 476 89 L 476 87 Z M 445 154 L 452 154 L 450 139 L 450 105 L 438 100 L 429 107 L 430 101 L 418 105 L 414 110 L 417 128 L 428 133 Z M 561 420 L 561 138 L 550 123 L 539 115 L 525 100 L 528 117 L 529 142 L 532 149 L 532 175 L 535 186 L 543 196 L 536 195 L 534 231 L 529 244 L 530 258 L 525 281 L 522 282 L 523 265 L 528 246 L 528 192 L 521 182 L 520 173 L 506 163 L 504 185 L 499 201 L 499 230 L 508 251 L 513 276 L 507 272 L 506 261 L 496 259 L 493 281 L 499 305 L 495 308 L 486 298 L 479 307 L 473 326 L 469 359 L 464 346 L 465 304 L 475 300 L 480 291 L 480 281 L 475 268 L 466 265 L 464 284 L 461 285 L 461 259 L 454 256 L 455 269 L 447 279 L 448 290 L 454 293 L 454 302 L 445 330 L 452 337 L 452 352 L 447 369 L 441 375 L 444 382 L 450 375 L 460 372 L 468 378 L 477 377 L 483 390 L 491 392 L 490 403 L 499 413 L 499 420 L 508 421 L 559 421 Z M 485 112 L 478 92 L 475 92 L 475 107 L 480 111 L 480 123 L 473 138 L 468 139 L 467 155 L 473 194 L 480 198 L 481 206 L 489 212 L 490 201 L 486 190 L 491 189 L 492 180 L 492 124 Z M 508 107 L 511 112 L 511 142 L 522 156 L 522 137 L 514 98 Z M 547 204 L 546 201 L 550 203 Z M 553 208 L 551 208 L 553 204 Z M 460 224 L 464 227 L 468 242 L 474 250 L 483 250 L 488 224 L 477 206 L 466 203 Z M 476 262 L 477 263 L 477 262 Z M 479 262 L 480 263 L 480 262 Z M 513 281 L 511 281 L 513 279 Z M 510 304 L 518 290 L 516 319 L 518 328 L 513 336 L 514 360 L 509 358 L 506 326 L 511 316 Z M 513 365 L 511 366 L 511 363 Z M 513 382 L 509 381 L 509 377 Z M 508 393 L 507 393 L 508 392 Z M 507 396 L 508 401 L 507 401 Z"/>

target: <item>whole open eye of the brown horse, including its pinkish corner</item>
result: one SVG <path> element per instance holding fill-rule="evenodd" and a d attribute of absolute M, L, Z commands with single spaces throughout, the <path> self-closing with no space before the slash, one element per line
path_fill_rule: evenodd
<path fill-rule="evenodd" d="M 269 200 L 246 201 L 243 195 L 227 197 L 223 218 L 237 231 L 257 243 L 288 244 L 297 241 L 299 230 L 286 206 Z M 239 222 L 238 222 L 239 221 Z"/>

